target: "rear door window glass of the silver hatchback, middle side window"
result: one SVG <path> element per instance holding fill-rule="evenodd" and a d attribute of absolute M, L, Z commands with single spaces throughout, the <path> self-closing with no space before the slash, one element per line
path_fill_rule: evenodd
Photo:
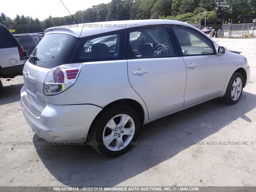
<path fill-rule="evenodd" d="M 127 58 L 175 56 L 166 28 L 142 28 L 129 32 Z"/>

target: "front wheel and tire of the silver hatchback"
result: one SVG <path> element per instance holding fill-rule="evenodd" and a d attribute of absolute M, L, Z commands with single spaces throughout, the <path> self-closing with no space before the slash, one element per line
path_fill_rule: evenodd
<path fill-rule="evenodd" d="M 235 72 L 228 83 L 226 94 L 223 97 L 224 102 L 228 105 L 236 104 L 242 95 L 243 86 L 243 76 L 240 73 Z"/>

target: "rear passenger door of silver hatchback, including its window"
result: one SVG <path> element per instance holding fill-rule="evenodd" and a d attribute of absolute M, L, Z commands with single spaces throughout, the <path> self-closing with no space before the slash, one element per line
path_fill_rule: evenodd
<path fill-rule="evenodd" d="M 149 119 L 182 108 L 186 67 L 167 29 L 130 29 L 128 41 L 128 78 L 144 100 Z"/>

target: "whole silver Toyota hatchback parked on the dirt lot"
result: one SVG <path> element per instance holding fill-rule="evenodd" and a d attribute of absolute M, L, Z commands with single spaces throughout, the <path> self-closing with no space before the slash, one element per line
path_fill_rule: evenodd
<path fill-rule="evenodd" d="M 94 42 L 114 36 L 114 43 Z M 172 20 L 129 20 L 45 30 L 23 70 L 21 107 L 50 142 L 89 140 L 100 154 L 132 147 L 140 125 L 223 97 L 250 78 L 244 56 Z"/>

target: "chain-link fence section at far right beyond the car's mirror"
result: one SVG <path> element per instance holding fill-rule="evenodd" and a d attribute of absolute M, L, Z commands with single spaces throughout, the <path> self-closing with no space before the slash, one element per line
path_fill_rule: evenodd
<path fill-rule="evenodd" d="M 222 31 L 224 32 L 224 37 L 232 38 L 232 37 L 252 37 L 253 35 L 254 23 L 244 23 L 244 24 L 222 24 Z M 255 33 L 255 32 L 254 32 Z"/>

